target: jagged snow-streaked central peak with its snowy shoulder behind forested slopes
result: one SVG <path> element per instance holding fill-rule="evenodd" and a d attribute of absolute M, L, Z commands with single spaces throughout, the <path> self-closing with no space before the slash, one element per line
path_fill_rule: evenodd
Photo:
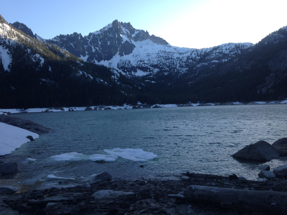
<path fill-rule="evenodd" d="M 88 36 L 73 33 L 47 40 L 75 56 L 114 68 L 125 75 L 142 76 L 158 71 L 185 73 L 199 71 L 225 62 L 253 46 L 251 43 L 229 43 L 204 49 L 179 48 L 164 39 L 133 28 L 130 23 L 113 21 Z"/>

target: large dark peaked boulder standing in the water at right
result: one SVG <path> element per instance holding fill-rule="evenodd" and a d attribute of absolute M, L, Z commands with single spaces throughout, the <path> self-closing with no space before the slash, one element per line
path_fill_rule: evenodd
<path fill-rule="evenodd" d="M 264 140 L 259 140 L 254 144 L 245 146 L 238 152 L 232 155 L 236 159 L 254 160 L 254 161 L 270 161 L 273 158 L 278 158 L 280 153 L 271 144 Z"/>

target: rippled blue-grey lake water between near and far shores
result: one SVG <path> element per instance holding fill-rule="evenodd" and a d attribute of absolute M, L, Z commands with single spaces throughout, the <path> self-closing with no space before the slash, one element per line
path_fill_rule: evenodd
<path fill-rule="evenodd" d="M 240 162 L 231 157 L 244 146 L 286 137 L 287 105 L 230 105 L 132 110 L 75 111 L 17 114 L 54 130 L 23 144 L 7 159 L 19 172 L 0 178 L 2 185 L 21 190 L 85 184 L 104 171 L 115 179 L 179 179 L 183 172 L 230 175 L 258 180 L 258 166 L 271 170 L 287 159 L 266 163 Z M 89 155 L 105 149 L 143 149 L 158 156 L 146 162 L 119 157 L 94 162 Z M 81 160 L 57 161 L 51 156 L 82 153 Z M 36 159 L 28 161 L 27 158 Z M 144 167 L 140 167 L 144 165 Z M 52 178 L 47 178 L 53 175 Z M 60 179 L 53 177 L 74 178 Z M 61 181 L 61 184 L 58 182 Z"/>

